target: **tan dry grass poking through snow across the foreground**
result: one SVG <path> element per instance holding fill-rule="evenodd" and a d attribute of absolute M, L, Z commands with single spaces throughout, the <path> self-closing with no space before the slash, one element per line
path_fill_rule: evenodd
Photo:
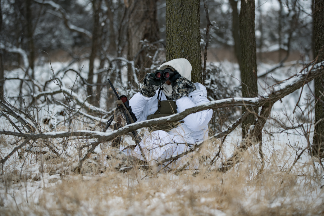
<path fill-rule="evenodd" d="M 289 151 L 267 157 L 265 168 L 257 146 L 243 153 L 242 160 L 227 173 L 209 166 L 214 143 L 182 158 L 188 169 L 117 172 L 104 166 L 111 149 L 85 164 L 74 174 L 74 161 L 39 155 L 1 176 L 1 215 L 322 215 L 321 178 L 312 160 L 292 162 Z M 102 147 L 103 148 L 103 147 Z M 31 161 L 31 163 L 30 163 Z M 110 160 L 110 164 L 114 163 Z M 118 161 L 115 161 L 118 163 Z M 181 165 L 179 162 L 178 164 Z M 180 166 L 179 165 L 179 166 Z M 179 168 L 179 167 L 173 167 Z M 27 196 L 26 196 L 26 191 Z M 28 202 L 27 202 L 28 201 Z"/>

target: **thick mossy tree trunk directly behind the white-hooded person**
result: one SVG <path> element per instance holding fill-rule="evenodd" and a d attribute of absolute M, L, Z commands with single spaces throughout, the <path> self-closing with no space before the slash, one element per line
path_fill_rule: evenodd
<path fill-rule="evenodd" d="M 200 1 L 166 1 L 167 61 L 185 58 L 191 63 L 191 81 L 202 83 Z"/>

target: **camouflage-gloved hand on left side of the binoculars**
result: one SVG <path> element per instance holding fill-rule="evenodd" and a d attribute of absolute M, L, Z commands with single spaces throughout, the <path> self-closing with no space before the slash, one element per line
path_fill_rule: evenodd
<path fill-rule="evenodd" d="M 144 78 L 144 85 L 140 88 L 141 94 L 147 98 L 155 95 L 156 90 L 166 81 L 166 79 L 155 79 L 154 74 L 147 73 Z"/>

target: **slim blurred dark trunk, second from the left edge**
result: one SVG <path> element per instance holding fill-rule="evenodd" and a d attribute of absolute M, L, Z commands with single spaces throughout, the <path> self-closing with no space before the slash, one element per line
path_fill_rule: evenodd
<path fill-rule="evenodd" d="M 27 38 L 29 46 L 29 68 L 31 69 L 31 78 L 34 79 L 34 62 L 35 62 L 35 47 L 33 39 L 33 26 L 32 26 L 32 12 L 31 12 L 32 0 L 26 1 L 26 21 L 27 21 Z"/>

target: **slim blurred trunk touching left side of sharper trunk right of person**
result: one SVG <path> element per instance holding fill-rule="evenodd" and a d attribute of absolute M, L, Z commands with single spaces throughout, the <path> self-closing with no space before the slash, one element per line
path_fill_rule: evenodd
<path fill-rule="evenodd" d="M 241 68 L 241 45 L 240 45 L 240 34 L 239 34 L 239 19 L 237 11 L 237 2 L 236 0 L 229 0 L 229 3 L 232 7 L 232 37 L 234 39 L 234 52 L 238 62 L 238 65 Z"/>

